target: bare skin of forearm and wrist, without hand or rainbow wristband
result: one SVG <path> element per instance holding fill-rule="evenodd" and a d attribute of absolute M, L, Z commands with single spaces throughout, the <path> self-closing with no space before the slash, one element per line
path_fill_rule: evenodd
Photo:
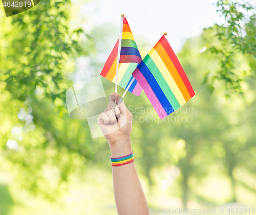
<path fill-rule="evenodd" d="M 117 158 L 132 153 L 131 141 L 123 140 L 111 147 L 111 157 Z M 137 175 L 135 163 L 112 166 L 114 195 L 119 215 L 144 215 L 148 213 L 146 198 Z"/>

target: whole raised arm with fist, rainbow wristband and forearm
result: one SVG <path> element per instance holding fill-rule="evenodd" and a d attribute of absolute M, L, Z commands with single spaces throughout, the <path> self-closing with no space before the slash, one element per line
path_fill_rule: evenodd
<path fill-rule="evenodd" d="M 133 161 L 131 133 L 133 115 L 112 93 L 108 108 L 99 116 L 100 129 L 108 140 L 116 208 L 119 215 L 149 214 L 146 198 Z M 114 158 L 114 159 L 113 159 Z"/>

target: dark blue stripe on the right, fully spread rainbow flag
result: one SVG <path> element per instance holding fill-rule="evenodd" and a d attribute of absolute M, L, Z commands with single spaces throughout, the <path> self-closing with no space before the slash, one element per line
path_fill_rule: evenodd
<path fill-rule="evenodd" d="M 166 98 L 166 96 L 164 95 L 162 89 L 160 88 L 158 82 L 156 81 L 156 79 L 152 75 L 150 69 L 147 68 L 147 66 L 145 65 L 145 63 L 143 61 L 141 61 L 141 63 L 139 64 L 138 69 L 140 70 L 141 74 L 147 80 L 151 89 L 155 93 L 157 99 L 159 100 L 159 102 L 163 106 L 164 111 L 166 112 L 166 114 L 167 115 L 172 114 L 174 112 L 174 109 L 173 109 L 172 105 L 170 104 L 170 102 L 168 101 L 168 99 Z"/>

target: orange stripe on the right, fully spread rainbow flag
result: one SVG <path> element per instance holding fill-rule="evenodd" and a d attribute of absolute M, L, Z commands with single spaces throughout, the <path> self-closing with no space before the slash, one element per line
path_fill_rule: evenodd
<path fill-rule="evenodd" d="M 184 99 L 186 101 L 188 101 L 191 97 L 187 91 L 187 88 L 184 84 L 184 82 L 182 81 L 177 69 L 175 68 L 172 60 L 170 60 L 168 54 L 166 53 L 165 49 L 163 48 L 163 46 L 160 44 L 160 42 L 158 41 L 157 44 L 154 46 L 154 49 L 157 51 L 157 53 L 159 54 L 159 56 L 162 58 L 165 66 L 167 67 L 170 75 L 173 76 L 178 88 L 180 89 L 180 92 L 182 93 Z"/>

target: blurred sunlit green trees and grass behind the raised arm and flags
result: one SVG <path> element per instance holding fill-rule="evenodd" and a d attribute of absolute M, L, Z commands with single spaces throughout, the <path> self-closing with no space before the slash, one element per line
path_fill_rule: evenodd
<path fill-rule="evenodd" d="M 69 117 L 65 93 L 99 75 L 119 29 L 77 28 L 71 20 L 87 23 L 77 17 L 82 4 L 42 0 L 0 19 L 1 215 L 117 214 L 108 143 Z M 215 7 L 225 23 L 187 39 L 177 54 L 196 96 L 165 121 L 144 92 L 124 99 L 151 208 L 255 206 L 256 7 Z M 152 48 L 143 36 L 136 42 L 142 57 Z M 114 83 L 102 82 L 110 95 Z"/>

